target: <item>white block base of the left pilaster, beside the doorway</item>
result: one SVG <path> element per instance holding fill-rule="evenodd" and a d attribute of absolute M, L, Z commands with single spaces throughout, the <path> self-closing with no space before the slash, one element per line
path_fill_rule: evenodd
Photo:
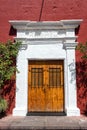
<path fill-rule="evenodd" d="M 25 108 L 14 108 L 13 116 L 26 116 L 27 110 Z"/>

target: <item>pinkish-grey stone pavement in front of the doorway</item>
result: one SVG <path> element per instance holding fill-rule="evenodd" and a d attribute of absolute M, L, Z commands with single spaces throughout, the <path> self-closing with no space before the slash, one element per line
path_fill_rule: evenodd
<path fill-rule="evenodd" d="M 87 117 L 67 116 L 7 116 L 0 119 L 0 130 L 85 130 Z"/>

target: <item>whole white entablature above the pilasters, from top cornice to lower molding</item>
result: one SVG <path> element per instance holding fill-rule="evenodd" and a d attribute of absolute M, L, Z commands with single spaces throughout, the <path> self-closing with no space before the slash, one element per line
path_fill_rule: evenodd
<path fill-rule="evenodd" d="M 82 22 L 78 20 L 60 20 L 60 21 L 24 21 L 11 20 L 10 24 L 17 29 L 16 40 L 23 41 L 64 41 L 75 42 L 75 28 Z"/>

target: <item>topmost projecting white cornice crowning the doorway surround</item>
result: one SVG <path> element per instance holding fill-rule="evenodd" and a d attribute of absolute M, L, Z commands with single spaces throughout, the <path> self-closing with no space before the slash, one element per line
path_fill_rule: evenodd
<path fill-rule="evenodd" d="M 22 30 L 37 30 L 37 29 L 68 29 L 76 28 L 82 22 L 82 19 L 72 19 L 72 20 L 60 20 L 60 21 L 28 21 L 28 20 L 10 20 L 9 23 L 15 29 Z"/>

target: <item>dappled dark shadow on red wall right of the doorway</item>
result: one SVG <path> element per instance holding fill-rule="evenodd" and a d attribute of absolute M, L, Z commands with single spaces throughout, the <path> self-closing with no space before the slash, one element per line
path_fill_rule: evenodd
<path fill-rule="evenodd" d="M 77 103 L 81 113 L 87 116 L 87 61 L 76 63 Z"/>

